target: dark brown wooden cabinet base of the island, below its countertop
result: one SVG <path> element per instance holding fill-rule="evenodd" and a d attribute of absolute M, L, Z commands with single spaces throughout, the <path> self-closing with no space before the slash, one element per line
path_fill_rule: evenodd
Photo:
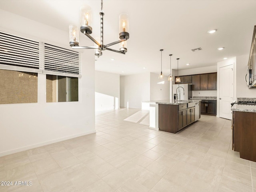
<path fill-rule="evenodd" d="M 159 104 L 158 127 L 160 131 L 176 133 L 195 122 L 195 107 L 188 104 Z"/>

